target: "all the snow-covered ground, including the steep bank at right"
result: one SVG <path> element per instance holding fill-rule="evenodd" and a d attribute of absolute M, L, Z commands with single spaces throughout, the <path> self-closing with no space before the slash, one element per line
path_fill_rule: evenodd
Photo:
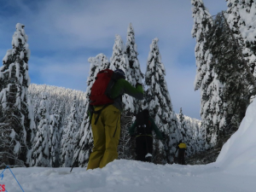
<path fill-rule="evenodd" d="M 61 192 L 254 192 L 256 191 L 256 101 L 241 126 L 224 144 L 215 163 L 205 166 L 154 165 L 114 160 L 102 169 L 14 168 L 24 191 Z M 1 171 L 2 172 L 2 171 Z M 5 170 L 0 184 L 8 192 L 22 191 Z M 1 177 L 0 177 L 1 179 Z"/>

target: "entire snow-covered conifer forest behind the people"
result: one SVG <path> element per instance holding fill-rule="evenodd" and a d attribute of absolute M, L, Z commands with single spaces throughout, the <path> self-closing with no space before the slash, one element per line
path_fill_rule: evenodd
<path fill-rule="evenodd" d="M 161 62 L 159 39 L 148 44 L 146 72 L 138 61 L 135 30 L 130 23 L 124 44 L 115 36 L 113 54 L 88 59 L 85 92 L 46 84 L 31 84 L 28 75 L 30 49 L 25 26 L 18 23 L 12 49 L 3 55 L 0 67 L 0 167 L 87 166 L 93 137 L 90 129 L 90 88 L 102 69 L 122 69 L 130 84 L 143 83 L 144 99 L 122 97 L 119 159 L 135 159 L 135 138 L 128 128 L 136 114 L 147 108 L 160 131 L 162 143 L 154 137 L 153 162 L 173 163 L 180 140 L 187 144 L 187 158 L 223 145 L 241 124 L 256 88 L 256 3 L 227 0 L 228 9 L 210 15 L 202 0 L 191 0 L 195 38 L 195 90 L 201 91 L 201 120 L 178 113 L 167 89 L 166 69 Z"/>

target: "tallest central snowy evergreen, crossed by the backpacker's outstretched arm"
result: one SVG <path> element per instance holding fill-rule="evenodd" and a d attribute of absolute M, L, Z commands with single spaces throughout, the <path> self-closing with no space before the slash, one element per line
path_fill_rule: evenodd
<path fill-rule="evenodd" d="M 114 52 L 114 50 L 113 50 Z M 135 33 L 130 23 L 127 30 L 127 38 L 125 45 L 124 57 L 126 65 L 125 73 L 126 80 L 132 85 L 136 86 L 137 83 L 141 84 L 143 79 L 143 73 L 140 69 L 140 64 L 137 59 L 137 44 L 135 43 Z M 128 128 L 131 127 L 132 119 L 139 109 L 142 108 L 142 102 L 134 99 L 131 96 L 123 96 L 124 111 L 121 114 L 121 133 L 119 139 L 119 158 L 120 159 L 134 159 L 135 152 L 131 150 L 134 148 L 135 139 L 130 137 Z M 129 149 L 130 148 L 130 149 Z"/>

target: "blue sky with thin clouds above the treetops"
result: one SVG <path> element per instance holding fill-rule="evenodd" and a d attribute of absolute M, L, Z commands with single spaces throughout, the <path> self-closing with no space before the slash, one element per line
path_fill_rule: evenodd
<path fill-rule="evenodd" d="M 227 8 L 224 0 L 204 0 L 212 15 Z M 1 0 L 0 57 L 11 49 L 16 23 L 25 25 L 31 49 L 29 75 L 34 84 L 86 90 L 88 58 L 110 59 L 115 34 L 126 42 L 135 31 L 143 73 L 149 45 L 159 38 L 166 82 L 176 113 L 200 119 L 200 91 L 194 90 L 195 39 L 189 0 Z"/>

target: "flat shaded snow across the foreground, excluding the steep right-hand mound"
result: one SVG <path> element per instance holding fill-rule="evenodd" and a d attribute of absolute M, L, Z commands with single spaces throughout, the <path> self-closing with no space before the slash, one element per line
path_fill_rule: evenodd
<path fill-rule="evenodd" d="M 154 165 L 136 160 L 114 160 L 102 169 L 14 168 L 26 192 L 254 192 L 255 177 L 239 176 L 207 166 Z M 4 172 L 1 184 L 22 192 L 13 175 Z"/>

